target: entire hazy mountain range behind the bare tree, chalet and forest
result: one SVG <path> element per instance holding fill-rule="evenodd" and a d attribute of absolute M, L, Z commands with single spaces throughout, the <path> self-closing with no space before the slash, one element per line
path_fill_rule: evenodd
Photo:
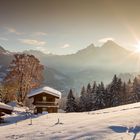
<path fill-rule="evenodd" d="M 138 54 L 119 46 L 113 41 L 107 41 L 101 47 L 93 44 L 70 55 L 44 54 L 29 50 L 24 53 L 35 55 L 46 66 L 44 84 L 59 90 L 76 91 L 93 81 L 109 83 L 114 74 L 139 72 Z M 7 66 L 13 53 L 0 47 L 0 65 Z"/>

